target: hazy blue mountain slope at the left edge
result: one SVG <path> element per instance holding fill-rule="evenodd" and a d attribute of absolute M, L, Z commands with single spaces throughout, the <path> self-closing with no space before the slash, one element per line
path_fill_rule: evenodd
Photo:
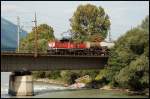
<path fill-rule="evenodd" d="M 27 32 L 21 30 L 20 38 L 25 37 Z M 1 51 L 15 51 L 17 48 L 17 25 L 1 18 Z"/>

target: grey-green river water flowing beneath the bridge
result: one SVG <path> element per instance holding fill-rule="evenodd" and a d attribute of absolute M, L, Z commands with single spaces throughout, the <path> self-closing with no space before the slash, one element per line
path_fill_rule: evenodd
<path fill-rule="evenodd" d="M 2 98 L 148 98 L 147 96 L 129 96 L 125 92 L 100 89 L 69 89 L 60 85 L 34 83 L 34 96 L 8 95 L 10 72 L 1 72 Z"/>

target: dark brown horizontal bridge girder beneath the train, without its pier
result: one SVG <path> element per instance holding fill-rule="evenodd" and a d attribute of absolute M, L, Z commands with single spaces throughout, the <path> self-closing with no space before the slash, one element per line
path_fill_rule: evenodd
<path fill-rule="evenodd" d="M 15 71 L 23 68 L 39 70 L 101 69 L 107 63 L 107 56 L 71 56 L 40 53 L 1 53 L 1 71 Z"/>

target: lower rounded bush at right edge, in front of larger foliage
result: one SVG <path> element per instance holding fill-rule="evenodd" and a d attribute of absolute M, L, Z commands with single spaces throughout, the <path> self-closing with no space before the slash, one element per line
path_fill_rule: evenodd
<path fill-rule="evenodd" d="M 122 86 L 129 86 L 129 88 L 142 89 L 148 87 L 149 84 L 149 60 L 148 57 L 142 55 L 132 61 L 129 66 L 121 69 L 116 76 L 116 80 Z"/>

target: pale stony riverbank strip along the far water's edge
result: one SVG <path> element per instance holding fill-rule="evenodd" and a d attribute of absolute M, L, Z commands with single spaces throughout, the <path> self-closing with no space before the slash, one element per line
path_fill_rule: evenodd
<path fill-rule="evenodd" d="M 61 80 L 54 80 L 54 79 L 48 79 L 48 78 L 34 79 L 34 82 L 44 82 L 44 83 L 49 83 L 49 84 L 61 85 L 61 86 L 64 86 L 64 87 L 72 86 L 72 85 L 68 85 L 68 84 L 64 83 Z M 73 85 L 75 85 L 75 84 L 73 84 Z M 74 89 L 79 89 L 79 87 L 74 87 Z M 131 91 L 130 89 L 123 89 L 123 88 L 118 88 L 118 87 L 111 87 L 109 85 L 105 85 L 105 86 L 103 86 L 103 87 L 101 87 L 99 89 L 100 90 L 126 92 L 128 95 L 146 95 L 146 96 L 149 96 L 149 89 L 146 89 L 144 91 Z"/>

